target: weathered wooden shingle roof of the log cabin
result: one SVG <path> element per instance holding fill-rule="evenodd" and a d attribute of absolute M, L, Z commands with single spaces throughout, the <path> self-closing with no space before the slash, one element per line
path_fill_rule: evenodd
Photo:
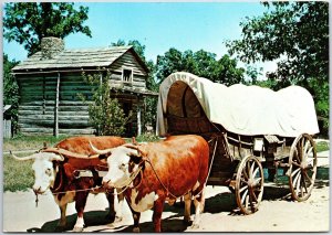
<path fill-rule="evenodd" d="M 42 53 L 37 52 L 32 56 L 12 68 L 12 72 L 28 72 L 40 70 L 77 70 L 86 67 L 106 67 L 115 62 L 127 51 L 134 51 L 133 46 L 107 46 L 94 49 L 65 49 L 53 58 L 42 58 Z M 135 53 L 135 52 L 134 52 Z M 138 62 L 145 70 L 146 65 L 135 53 Z"/>

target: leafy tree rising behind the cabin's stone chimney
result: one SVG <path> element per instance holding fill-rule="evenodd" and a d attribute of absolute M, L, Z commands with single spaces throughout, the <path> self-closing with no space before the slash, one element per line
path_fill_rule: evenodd
<path fill-rule="evenodd" d="M 91 36 L 87 20 L 89 8 L 74 9 L 69 2 L 10 2 L 4 4 L 3 38 L 23 44 L 28 55 L 40 51 L 44 36 L 64 39 L 82 32 Z"/>

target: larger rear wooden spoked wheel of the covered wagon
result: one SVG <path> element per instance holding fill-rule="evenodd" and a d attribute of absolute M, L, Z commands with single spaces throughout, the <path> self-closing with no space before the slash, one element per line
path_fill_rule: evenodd
<path fill-rule="evenodd" d="M 287 175 L 292 197 L 299 202 L 309 199 L 317 175 L 317 149 L 308 133 L 302 133 L 293 141 Z"/>

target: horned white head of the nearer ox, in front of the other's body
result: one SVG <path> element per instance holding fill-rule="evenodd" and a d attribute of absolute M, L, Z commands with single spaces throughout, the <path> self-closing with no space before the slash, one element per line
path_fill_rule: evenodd
<path fill-rule="evenodd" d="M 139 165 L 144 163 L 145 153 L 137 145 L 126 143 L 116 148 L 98 150 L 92 143 L 92 149 L 106 158 L 108 172 L 103 178 L 105 188 L 124 188 L 132 182 L 132 177 L 138 171 Z"/>

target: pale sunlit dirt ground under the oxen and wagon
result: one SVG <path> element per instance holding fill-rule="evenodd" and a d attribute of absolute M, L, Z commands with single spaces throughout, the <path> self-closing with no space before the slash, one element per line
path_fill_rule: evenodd
<path fill-rule="evenodd" d="M 259 211 L 252 215 L 239 215 L 234 194 L 225 186 L 207 186 L 205 212 L 200 227 L 191 229 L 183 224 L 184 209 L 179 203 L 165 205 L 164 232 L 328 232 L 330 231 L 329 165 L 319 167 L 318 181 L 312 195 L 305 202 L 293 202 L 286 184 L 266 183 L 264 196 Z M 60 211 L 51 194 L 39 197 L 29 192 L 3 193 L 3 232 L 54 232 Z M 104 194 L 90 194 L 85 207 L 84 232 L 132 232 L 133 218 L 127 204 L 123 207 L 124 220 L 110 224 L 104 216 L 107 201 Z M 68 231 L 75 220 L 74 203 L 68 206 Z M 152 211 L 142 213 L 141 232 L 153 232 Z"/>

